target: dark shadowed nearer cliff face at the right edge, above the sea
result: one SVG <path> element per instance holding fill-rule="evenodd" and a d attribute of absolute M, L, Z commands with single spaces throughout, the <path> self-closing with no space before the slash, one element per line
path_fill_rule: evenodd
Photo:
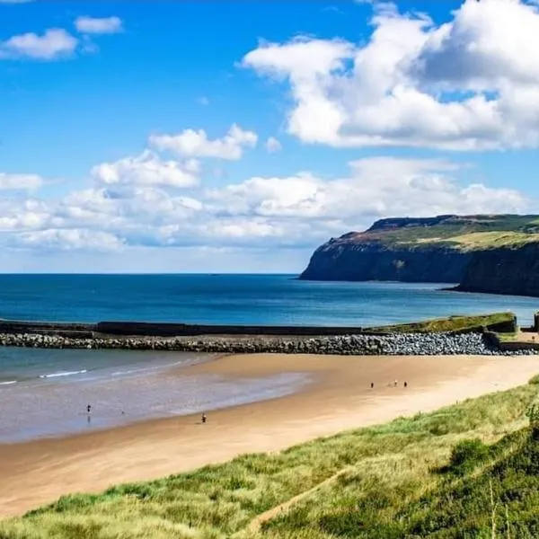
<path fill-rule="evenodd" d="M 474 252 L 456 290 L 539 296 L 539 243 Z"/>

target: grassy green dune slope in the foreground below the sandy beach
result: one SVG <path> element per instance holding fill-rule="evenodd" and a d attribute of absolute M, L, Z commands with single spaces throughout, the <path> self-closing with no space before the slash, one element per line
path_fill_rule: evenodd
<path fill-rule="evenodd" d="M 66 496 L 0 523 L 0 538 L 537 537 L 538 393 L 536 377 L 279 454 Z"/>

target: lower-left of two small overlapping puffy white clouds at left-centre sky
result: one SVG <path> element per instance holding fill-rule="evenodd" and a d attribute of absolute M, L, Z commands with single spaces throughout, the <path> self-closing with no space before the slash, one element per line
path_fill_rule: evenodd
<path fill-rule="evenodd" d="M 154 152 L 145 150 L 137 157 L 125 157 L 114 163 L 94 166 L 92 176 L 103 185 L 192 187 L 199 182 L 199 162 L 163 161 Z"/>

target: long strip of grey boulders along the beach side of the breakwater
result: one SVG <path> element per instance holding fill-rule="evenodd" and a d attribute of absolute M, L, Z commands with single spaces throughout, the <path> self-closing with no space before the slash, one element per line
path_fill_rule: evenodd
<path fill-rule="evenodd" d="M 207 353 L 334 355 L 528 355 L 531 349 L 499 349 L 481 333 L 393 333 L 316 337 L 214 336 L 76 338 L 35 333 L 2 333 L 0 345 L 49 349 L 176 350 Z"/>

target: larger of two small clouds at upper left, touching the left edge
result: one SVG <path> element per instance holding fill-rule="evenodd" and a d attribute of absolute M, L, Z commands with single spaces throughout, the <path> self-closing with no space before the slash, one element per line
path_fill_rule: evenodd
<path fill-rule="evenodd" d="M 0 58 L 33 58 L 56 60 L 75 52 L 78 40 L 60 28 L 52 28 L 43 35 L 25 33 L 0 41 Z"/>

